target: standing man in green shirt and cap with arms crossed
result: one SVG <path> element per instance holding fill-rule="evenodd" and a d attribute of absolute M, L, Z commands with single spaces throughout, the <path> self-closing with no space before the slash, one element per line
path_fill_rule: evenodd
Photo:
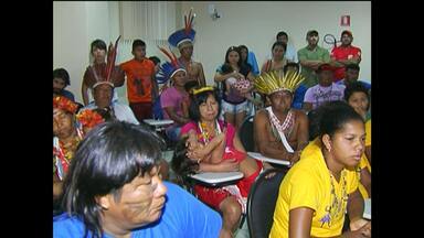
<path fill-rule="evenodd" d="M 330 53 L 318 46 L 319 36 L 316 30 L 310 30 L 306 34 L 308 45 L 297 52 L 301 65 L 301 74 L 305 76 L 303 85 L 310 88 L 318 84 L 318 77 L 315 73 L 321 64 L 330 62 Z"/>

